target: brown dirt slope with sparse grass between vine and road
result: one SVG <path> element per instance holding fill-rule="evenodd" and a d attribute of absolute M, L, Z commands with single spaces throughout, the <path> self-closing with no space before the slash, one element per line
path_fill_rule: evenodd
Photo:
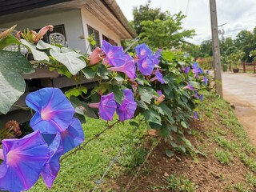
<path fill-rule="evenodd" d="M 170 146 L 162 141 L 154 148 L 128 190 L 126 189 L 127 184 L 134 178 L 134 173 L 124 174 L 122 177 L 114 179 L 112 186 L 106 187 L 106 189 L 110 190 L 104 191 L 256 191 L 256 175 L 254 175 L 255 186 L 249 183 L 248 178 L 246 178 L 248 173 L 255 173 L 253 167 L 255 166 L 256 170 L 256 162 L 254 160 L 247 162 L 250 163 L 250 166 L 248 166 L 241 158 L 242 154 L 246 154 L 248 159 L 256 159 L 256 153 L 242 149 L 244 144 L 241 144 L 241 138 L 237 137 L 237 130 L 231 130 L 234 126 L 237 127 L 238 131 L 242 129 L 239 124 L 235 124 L 238 122 L 236 120 L 234 122 L 226 122 L 226 119 L 235 118 L 231 107 L 223 102 L 224 104 L 216 104 L 218 106 L 212 109 L 213 107 L 209 106 L 208 103 L 214 106 L 214 102 L 218 103 L 218 99 L 206 101 L 205 107 L 209 107 L 210 114 L 206 110 L 205 114 L 203 114 L 204 118 L 190 122 L 190 127 L 193 128 L 194 134 L 186 135 L 192 145 L 205 155 L 186 155 L 175 152 L 173 157 L 168 158 L 166 149 L 170 148 Z M 242 103 L 239 106 L 238 102 L 236 102 L 235 107 L 235 113 L 240 113 L 238 115 L 254 114 L 254 111 L 249 106 L 245 106 Z M 246 117 L 243 117 L 242 120 L 246 121 Z M 222 146 L 216 142 L 216 138 L 224 138 L 227 143 L 222 143 Z M 231 150 L 231 146 L 234 143 L 241 145 L 238 146 L 238 150 Z M 217 150 L 230 152 L 232 156 L 230 163 L 221 163 L 214 154 Z M 138 170 L 138 167 L 134 168 L 134 171 L 136 170 Z M 171 184 L 168 184 L 166 179 L 171 175 L 176 175 L 176 177 L 182 175 L 182 177 L 189 179 L 190 182 L 194 183 L 194 190 L 190 190 L 189 187 L 185 190 L 170 190 Z"/>

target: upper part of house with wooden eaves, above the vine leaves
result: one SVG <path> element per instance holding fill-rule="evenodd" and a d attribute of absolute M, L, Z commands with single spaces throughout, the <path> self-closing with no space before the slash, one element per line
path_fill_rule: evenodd
<path fill-rule="evenodd" d="M 50 33 L 58 32 L 70 48 L 82 53 L 94 49 L 86 42 L 90 34 L 94 34 L 96 46 L 103 39 L 120 46 L 122 39 L 136 36 L 115 0 L 3 0 L 1 5 L 0 28 L 17 24 L 16 30 L 39 30 L 53 25 L 54 31 L 44 41 L 50 42 Z"/>

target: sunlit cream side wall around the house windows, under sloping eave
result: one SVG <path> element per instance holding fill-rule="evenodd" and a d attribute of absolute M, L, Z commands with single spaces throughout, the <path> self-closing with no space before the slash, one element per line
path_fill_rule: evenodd
<path fill-rule="evenodd" d="M 102 34 L 103 34 L 107 38 L 111 38 L 114 40 L 114 42 L 117 42 L 118 46 L 121 46 L 121 38 L 118 37 L 118 35 L 115 34 L 113 30 L 110 30 L 104 24 L 104 21 L 100 21 L 98 20 L 98 18 L 95 18 L 95 16 L 93 14 L 90 14 L 90 12 L 88 12 L 88 10 L 86 10 L 86 8 L 84 7 L 82 7 L 81 9 L 81 15 L 82 15 L 83 31 L 86 38 L 89 36 L 88 28 L 87 28 L 87 25 L 89 25 L 92 28 L 94 28 L 94 30 L 98 30 L 101 44 L 102 44 Z M 88 42 L 86 42 L 86 46 L 87 45 L 88 45 Z"/>

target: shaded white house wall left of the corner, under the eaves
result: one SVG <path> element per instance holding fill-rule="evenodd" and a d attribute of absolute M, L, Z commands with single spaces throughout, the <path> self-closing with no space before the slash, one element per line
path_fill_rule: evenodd
<path fill-rule="evenodd" d="M 64 24 L 68 46 L 73 49 L 81 50 L 82 53 L 86 52 L 86 42 L 85 39 L 82 38 L 84 32 L 82 29 L 81 11 L 79 9 L 68 10 L 58 14 L 47 14 L 35 18 L 26 18 L 4 24 L 0 23 L 0 28 L 7 28 L 15 24 L 18 25 L 16 30 L 24 30 L 27 28 L 33 30 L 40 29 L 47 25 L 57 26 Z"/>

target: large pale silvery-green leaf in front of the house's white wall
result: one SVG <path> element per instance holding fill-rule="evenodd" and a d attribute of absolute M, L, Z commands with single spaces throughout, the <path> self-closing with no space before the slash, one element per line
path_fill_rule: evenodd
<path fill-rule="evenodd" d="M 82 54 L 76 53 L 74 50 L 70 50 L 66 47 L 61 49 L 54 47 L 50 49 L 50 55 L 53 56 L 58 62 L 61 62 L 70 71 L 71 74 L 75 75 L 79 70 L 86 67 L 86 62 L 79 57 Z"/>

